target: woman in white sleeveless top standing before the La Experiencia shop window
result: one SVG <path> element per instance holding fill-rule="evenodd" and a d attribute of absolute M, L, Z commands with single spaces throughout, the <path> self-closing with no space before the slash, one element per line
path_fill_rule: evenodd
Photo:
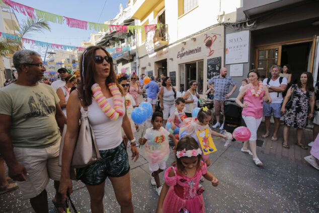
<path fill-rule="evenodd" d="M 199 95 L 196 92 L 197 82 L 192 80 L 189 82 L 189 90 L 186 91 L 183 98 L 185 100 L 185 114 L 187 117 L 192 117 L 192 111 L 198 105 Z"/>

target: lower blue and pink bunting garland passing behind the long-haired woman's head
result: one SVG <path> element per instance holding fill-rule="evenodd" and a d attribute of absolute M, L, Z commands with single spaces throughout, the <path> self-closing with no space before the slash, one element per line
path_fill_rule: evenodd
<path fill-rule="evenodd" d="M 76 46 L 68 46 L 68 45 L 62 45 L 62 44 L 52 44 L 52 43 L 47 43 L 43 41 L 37 41 L 29 38 L 21 38 L 19 36 L 15 36 L 12 34 L 8 33 L 2 33 L 0 32 L 0 36 L 4 36 L 8 40 L 16 40 L 19 42 L 21 39 L 23 42 L 26 42 L 28 44 L 35 44 L 40 47 L 51 47 L 52 49 L 72 49 L 72 50 L 78 50 L 78 51 L 84 51 L 86 48 L 85 47 L 76 47 Z M 114 53 L 114 52 L 120 52 L 120 51 L 130 51 L 132 47 L 122 47 L 122 48 L 105 48 L 109 53 Z"/>

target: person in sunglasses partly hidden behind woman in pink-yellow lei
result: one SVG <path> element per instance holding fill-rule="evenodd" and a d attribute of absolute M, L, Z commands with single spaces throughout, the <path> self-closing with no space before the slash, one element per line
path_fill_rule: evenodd
<path fill-rule="evenodd" d="M 138 126 L 134 123 L 134 121 L 131 118 L 132 111 L 135 108 L 135 101 L 134 101 L 133 97 L 128 93 L 128 88 L 129 88 L 130 84 L 127 82 L 127 79 L 129 79 L 129 77 L 126 74 L 119 74 L 119 75 L 117 75 L 116 78 L 117 78 L 117 81 L 119 82 L 119 84 L 124 88 L 126 114 L 128 116 L 128 119 L 130 120 L 132 132 L 135 133 Z M 122 136 L 123 136 L 125 147 L 127 147 L 128 138 L 127 138 L 123 128 L 122 128 Z"/>

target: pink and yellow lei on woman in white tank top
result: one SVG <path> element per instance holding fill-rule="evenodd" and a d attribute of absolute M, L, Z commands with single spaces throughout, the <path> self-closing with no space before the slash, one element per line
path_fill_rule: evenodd
<path fill-rule="evenodd" d="M 92 85 L 91 89 L 93 92 L 93 97 L 98 102 L 102 111 L 108 117 L 110 117 L 111 120 L 117 120 L 117 118 L 119 116 L 124 115 L 122 94 L 119 91 L 119 88 L 116 86 L 115 83 L 108 84 L 108 87 L 109 87 L 109 90 L 113 96 L 114 109 L 111 107 L 109 102 L 106 100 L 105 96 L 102 93 L 101 87 L 97 83 Z"/>

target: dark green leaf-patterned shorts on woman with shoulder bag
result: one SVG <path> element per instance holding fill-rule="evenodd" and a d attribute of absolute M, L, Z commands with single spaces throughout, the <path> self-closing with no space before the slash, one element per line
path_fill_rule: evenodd
<path fill-rule="evenodd" d="M 100 150 L 101 159 L 86 167 L 76 169 L 76 179 L 87 185 L 99 185 L 109 177 L 121 177 L 129 172 L 124 141 L 113 149 Z"/>

